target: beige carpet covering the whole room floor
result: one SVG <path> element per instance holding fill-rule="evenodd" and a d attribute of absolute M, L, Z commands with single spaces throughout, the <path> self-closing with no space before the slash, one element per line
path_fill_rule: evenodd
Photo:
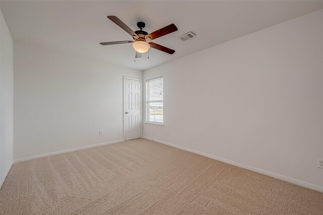
<path fill-rule="evenodd" d="M 323 193 L 145 139 L 14 164 L 0 214 L 323 214 Z"/>

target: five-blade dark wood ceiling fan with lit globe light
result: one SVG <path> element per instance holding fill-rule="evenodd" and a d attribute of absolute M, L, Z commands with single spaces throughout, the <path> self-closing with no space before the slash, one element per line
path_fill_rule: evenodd
<path fill-rule="evenodd" d="M 142 30 L 146 26 L 145 23 L 143 22 L 137 23 L 137 26 L 140 30 L 134 32 L 126 24 L 124 24 L 118 17 L 107 16 L 107 18 L 110 19 L 112 22 L 116 23 L 120 28 L 125 30 L 128 34 L 130 34 L 133 37 L 134 41 L 125 40 L 125 41 L 103 42 L 103 43 L 100 43 L 101 45 L 132 43 L 132 46 L 136 51 L 136 57 L 141 57 L 141 54 L 147 52 L 150 47 L 155 48 L 159 51 L 164 51 L 169 54 L 174 54 L 175 50 L 173 49 L 167 48 L 157 43 L 147 42 L 147 41 L 156 39 L 158 37 L 170 34 L 174 31 L 177 31 L 178 29 L 174 24 L 168 25 L 164 28 L 161 28 L 157 31 L 154 31 L 148 34 L 147 32 Z"/>

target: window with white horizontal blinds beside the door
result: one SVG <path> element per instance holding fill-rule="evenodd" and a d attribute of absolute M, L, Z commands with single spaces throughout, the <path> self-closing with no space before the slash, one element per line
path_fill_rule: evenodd
<path fill-rule="evenodd" d="M 163 77 L 146 80 L 146 122 L 164 122 Z"/>

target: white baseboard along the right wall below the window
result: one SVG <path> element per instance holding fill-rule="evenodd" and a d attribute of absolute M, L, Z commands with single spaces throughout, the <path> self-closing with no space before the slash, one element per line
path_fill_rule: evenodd
<path fill-rule="evenodd" d="M 204 156 L 204 157 L 207 157 L 207 158 L 222 161 L 222 162 L 227 163 L 227 164 L 232 164 L 234 166 L 238 166 L 238 167 L 241 167 L 241 168 L 244 168 L 244 169 L 247 169 L 247 170 L 258 172 L 258 173 L 261 173 L 261 174 L 264 174 L 264 175 L 267 175 L 267 176 L 271 176 L 273 178 L 277 178 L 277 179 L 280 179 L 280 180 L 283 180 L 283 181 L 287 181 L 287 182 L 290 182 L 292 184 L 296 184 L 296 185 L 306 187 L 306 188 L 309 188 L 309 189 L 312 189 L 312 190 L 323 192 L 323 187 L 317 186 L 315 184 L 310 184 L 310 183 L 307 183 L 305 181 L 300 181 L 300 180 L 290 178 L 290 177 L 287 177 L 287 176 L 284 176 L 284 175 L 280 175 L 280 174 L 273 173 L 273 172 L 270 172 L 270 171 L 262 170 L 262 169 L 259 169 L 259 168 L 256 168 L 256 167 L 251 167 L 251 166 L 248 166 L 248 165 L 245 165 L 245 164 L 242 164 L 242 163 L 231 161 L 231 160 L 228 160 L 228 159 L 225 159 L 225 158 L 220 158 L 218 156 L 214 156 L 214 155 L 210 155 L 210 154 L 207 154 L 207 153 L 199 152 L 199 151 L 192 150 L 192 149 L 189 149 L 189 148 L 186 148 L 186 147 L 181 147 L 181 146 L 178 146 L 178 145 L 175 145 L 175 144 L 170 144 L 169 142 L 157 140 L 157 139 L 150 138 L 150 137 L 147 137 L 147 136 L 143 136 L 142 138 L 149 139 L 149 140 L 152 140 L 152 141 L 155 141 L 155 142 L 159 142 L 160 144 L 165 144 L 165 145 L 168 145 L 168 146 L 171 146 L 171 147 L 174 147 L 174 148 L 177 148 L 177 149 L 181 149 L 181 150 L 184 150 L 184 151 L 187 151 L 187 152 L 191 152 L 191 153 L 194 153 L 194 154 L 198 154 L 198 155 L 201 155 L 201 156 Z"/>

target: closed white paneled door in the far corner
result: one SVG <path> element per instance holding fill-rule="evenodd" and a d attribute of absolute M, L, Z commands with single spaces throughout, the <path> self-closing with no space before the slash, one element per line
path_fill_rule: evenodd
<path fill-rule="evenodd" d="M 125 140 L 141 137 L 141 81 L 124 78 Z"/>

